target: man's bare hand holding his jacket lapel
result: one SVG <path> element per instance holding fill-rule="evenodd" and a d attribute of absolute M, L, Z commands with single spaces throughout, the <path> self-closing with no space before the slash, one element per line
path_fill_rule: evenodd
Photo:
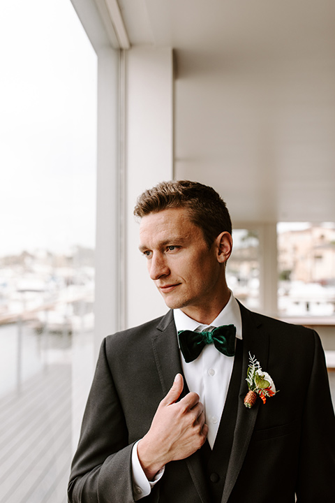
<path fill-rule="evenodd" d="M 204 406 L 197 393 L 188 393 L 177 402 L 183 388 L 183 377 L 177 374 L 158 405 L 149 432 L 137 444 L 137 455 L 148 480 L 167 462 L 188 458 L 206 441 Z"/>

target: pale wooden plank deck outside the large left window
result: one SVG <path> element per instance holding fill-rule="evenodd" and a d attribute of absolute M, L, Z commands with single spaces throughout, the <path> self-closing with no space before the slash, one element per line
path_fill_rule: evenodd
<path fill-rule="evenodd" d="M 50 365 L 0 400 L 0 503 L 66 503 L 71 367 Z"/>

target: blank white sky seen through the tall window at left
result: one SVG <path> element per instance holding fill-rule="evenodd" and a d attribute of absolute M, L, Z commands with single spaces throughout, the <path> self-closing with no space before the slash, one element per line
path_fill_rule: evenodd
<path fill-rule="evenodd" d="M 0 3 L 0 256 L 94 247 L 97 58 L 70 0 Z"/>

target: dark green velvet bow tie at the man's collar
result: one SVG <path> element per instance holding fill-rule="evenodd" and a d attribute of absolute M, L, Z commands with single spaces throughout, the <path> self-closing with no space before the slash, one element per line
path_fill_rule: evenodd
<path fill-rule="evenodd" d="M 214 328 L 211 332 L 193 332 L 192 330 L 179 330 L 179 346 L 186 363 L 198 358 L 206 344 L 214 344 L 216 349 L 225 356 L 234 356 L 236 327 L 223 325 Z"/>

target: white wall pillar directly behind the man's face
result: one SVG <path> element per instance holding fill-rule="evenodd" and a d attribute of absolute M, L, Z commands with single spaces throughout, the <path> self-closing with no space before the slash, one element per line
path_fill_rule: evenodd
<path fill-rule="evenodd" d="M 173 54 L 170 48 L 126 52 L 124 326 L 167 311 L 138 250 L 137 196 L 173 177 Z"/>

